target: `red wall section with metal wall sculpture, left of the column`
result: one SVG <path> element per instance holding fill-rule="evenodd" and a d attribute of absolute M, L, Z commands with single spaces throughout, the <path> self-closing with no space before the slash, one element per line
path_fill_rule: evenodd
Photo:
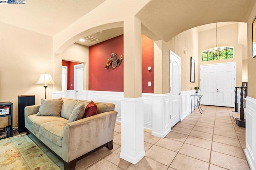
<path fill-rule="evenodd" d="M 89 90 L 124 91 L 124 62 L 116 68 L 105 69 L 107 59 L 116 53 L 117 59 L 124 55 L 124 36 L 120 35 L 89 47 Z"/>

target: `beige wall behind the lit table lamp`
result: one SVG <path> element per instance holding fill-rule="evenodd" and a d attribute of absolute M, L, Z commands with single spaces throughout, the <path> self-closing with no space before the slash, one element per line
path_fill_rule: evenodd
<path fill-rule="evenodd" d="M 44 87 L 36 82 L 40 73 L 53 73 L 52 37 L 0 23 L 0 102 L 13 103 L 13 126 L 18 122 L 18 95 L 44 98 Z M 53 77 L 54 79 L 54 77 Z M 51 98 L 52 85 L 47 88 Z M 0 127 L 7 119 L 0 119 Z"/>

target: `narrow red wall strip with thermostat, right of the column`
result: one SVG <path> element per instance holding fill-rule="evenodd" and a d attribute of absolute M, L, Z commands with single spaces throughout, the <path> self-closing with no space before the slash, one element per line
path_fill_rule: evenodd
<path fill-rule="evenodd" d="M 154 41 L 141 35 L 142 43 L 142 93 L 154 93 Z M 151 70 L 148 70 L 148 67 Z M 151 87 L 148 87 L 151 82 Z"/>

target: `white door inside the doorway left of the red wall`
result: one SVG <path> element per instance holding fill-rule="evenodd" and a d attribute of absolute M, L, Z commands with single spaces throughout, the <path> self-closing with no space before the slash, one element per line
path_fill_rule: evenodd
<path fill-rule="evenodd" d="M 84 64 L 74 65 L 74 91 L 76 99 L 83 99 Z"/>

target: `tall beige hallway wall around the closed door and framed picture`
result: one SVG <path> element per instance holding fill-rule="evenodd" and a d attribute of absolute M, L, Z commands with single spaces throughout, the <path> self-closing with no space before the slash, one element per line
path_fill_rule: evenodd
<path fill-rule="evenodd" d="M 169 93 L 170 75 L 169 75 L 169 49 L 176 53 L 181 58 L 181 91 L 194 90 L 195 86 L 199 86 L 198 79 L 198 31 L 197 28 L 192 28 L 184 31 L 164 45 L 164 93 Z M 187 52 L 187 54 L 184 53 Z M 196 61 L 195 82 L 190 82 L 190 57 Z M 166 88 L 168 87 L 168 88 Z"/>

